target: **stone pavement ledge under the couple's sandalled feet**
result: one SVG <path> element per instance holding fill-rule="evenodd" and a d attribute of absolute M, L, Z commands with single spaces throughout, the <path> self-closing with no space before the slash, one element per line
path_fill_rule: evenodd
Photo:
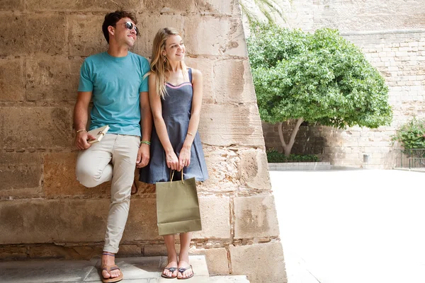
<path fill-rule="evenodd" d="M 196 283 L 249 283 L 245 276 L 210 277 L 203 255 L 191 255 L 195 276 L 184 282 Z M 123 283 L 170 283 L 177 279 L 161 277 L 166 257 L 117 258 L 117 265 L 124 274 Z M 94 260 L 28 260 L 0 262 L 2 283 L 59 283 L 101 282 L 98 267 L 100 259 Z M 180 282 L 180 281 L 179 281 Z"/>

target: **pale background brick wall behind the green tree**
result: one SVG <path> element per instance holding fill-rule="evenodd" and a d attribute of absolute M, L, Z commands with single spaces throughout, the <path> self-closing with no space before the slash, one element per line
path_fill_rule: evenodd
<path fill-rule="evenodd" d="M 392 168 L 397 144 L 391 135 L 414 115 L 425 117 L 425 6 L 413 0 L 291 2 L 282 4 L 291 28 L 336 28 L 361 47 L 385 77 L 394 111 L 392 124 L 378 129 L 302 126 L 293 153 L 319 154 L 336 166 Z M 263 123 L 263 132 L 266 148 L 281 150 L 277 125 Z"/>

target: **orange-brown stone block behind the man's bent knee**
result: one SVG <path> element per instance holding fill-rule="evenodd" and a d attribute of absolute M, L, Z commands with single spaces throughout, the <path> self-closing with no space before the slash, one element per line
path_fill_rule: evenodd
<path fill-rule="evenodd" d="M 99 197 L 111 195 L 111 182 L 97 187 L 84 187 L 77 181 L 75 166 L 77 152 L 50 153 L 44 156 L 44 185 L 46 197 Z"/>

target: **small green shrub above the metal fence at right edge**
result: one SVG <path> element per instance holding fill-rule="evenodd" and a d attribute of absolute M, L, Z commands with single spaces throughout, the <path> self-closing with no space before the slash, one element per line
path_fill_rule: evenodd
<path fill-rule="evenodd" d="M 398 141 L 404 149 L 425 149 L 425 120 L 414 117 L 397 129 L 392 141 Z"/>

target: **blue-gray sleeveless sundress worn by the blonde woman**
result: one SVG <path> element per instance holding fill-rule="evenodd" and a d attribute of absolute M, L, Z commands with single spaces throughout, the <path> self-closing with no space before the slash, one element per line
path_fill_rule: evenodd
<path fill-rule="evenodd" d="M 184 139 L 188 133 L 189 120 L 192 109 L 192 69 L 188 69 L 189 81 L 173 86 L 166 83 L 166 96 L 162 99 L 162 117 L 166 125 L 171 145 L 179 158 Z M 208 171 L 203 154 L 199 133 L 196 132 L 191 147 L 191 164 L 183 169 L 185 179 L 195 178 L 197 181 L 208 179 Z M 164 148 L 155 127 L 152 127 L 149 164 L 140 169 L 139 180 L 144 183 L 166 182 L 170 178 L 170 169 L 166 166 Z M 179 180 L 181 175 L 174 174 L 174 179 Z"/>

